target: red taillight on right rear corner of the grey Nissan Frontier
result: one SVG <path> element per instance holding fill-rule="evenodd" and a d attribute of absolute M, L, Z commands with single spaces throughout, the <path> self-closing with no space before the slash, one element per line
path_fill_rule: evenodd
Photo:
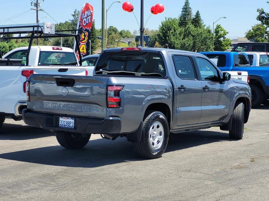
<path fill-rule="evenodd" d="M 120 108 L 121 98 L 120 91 L 124 86 L 108 86 L 107 87 L 107 107 Z"/>

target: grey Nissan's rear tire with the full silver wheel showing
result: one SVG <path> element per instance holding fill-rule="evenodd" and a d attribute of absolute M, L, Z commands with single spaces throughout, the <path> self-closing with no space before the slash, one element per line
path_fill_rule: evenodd
<path fill-rule="evenodd" d="M 159 126 L 159 127 L 158 127 Z M 155 128 L 156 127 L 156 128 Z M 159 129 L 159 130 L 155 130 Z M 163 131 L 163 133 L 162 133 Z M 152 135 L 150 134 L 152 133 Z M 158 144 L 158 138 L 162 138 L 161 144 Z M 150 142 L 155 139 L 155 142 Z M 149 114 L 142 127 L 142 136 L 140 142 L 133 142 L 136 153 L 143 158 L 158 158 L 164 153 L 169 139 L 169 124 L 161 112 L 152 112 Z M 150 145 L 150 143 L 152 145 Z M 160 143 L 160 141 L 159 141 Z M 155 146 L 155 148 L 153 148 Z"/>

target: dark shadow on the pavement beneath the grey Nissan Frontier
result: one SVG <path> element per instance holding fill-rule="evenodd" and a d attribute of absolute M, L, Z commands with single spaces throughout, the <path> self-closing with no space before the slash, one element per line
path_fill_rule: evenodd
<path fill-rule="evenodd" d="M 214 131 L 171 134 L 166 152 L 227 140 L 230 140 L 227 133 Z M 87 168 L 144 160 L 136 155 L 132 143 L 126 138 L 118 138 L 115 141 L 90 140 L 88 145 L 80 150 L 49 146 L 4 153 L 0 154 L 0 158 L 44 165 Z"/>

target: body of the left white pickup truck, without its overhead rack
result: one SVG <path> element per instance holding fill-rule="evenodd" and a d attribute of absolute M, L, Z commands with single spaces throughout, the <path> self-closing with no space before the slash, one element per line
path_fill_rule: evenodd
<path fill-rule="evenodd" d="M 6 116 L 22 119 L 22 110 L 27 106 L 26 80 L 31 74 L 86 75 L 86 68 L 79 67 L 70 48 L 33 46 L 28 66 L 25 65 L 27 51 L 28 47 L 20 47 L 0 59 L 0 126 Z"/>

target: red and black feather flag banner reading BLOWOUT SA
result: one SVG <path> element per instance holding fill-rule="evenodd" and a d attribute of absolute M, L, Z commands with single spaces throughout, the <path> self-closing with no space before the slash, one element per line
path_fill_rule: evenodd
<path fill-rule="evenodd" d="M 89 3 L 85 3 L 79 14 L 79 20 L 77 33 L 81 34 L 81 41 L 79 42 L 79 49 L 81 52 L 81 57 L 87 56 L 90 54 L 90 32 L 92 29 L 92 20 L 93 20 L 93 7 Z M 83 31 L 85 32 L 85 35 Z M 76 41 L 74 44 L 74 50 L 79 59 L 79 52 L 76 46 Z"/>

